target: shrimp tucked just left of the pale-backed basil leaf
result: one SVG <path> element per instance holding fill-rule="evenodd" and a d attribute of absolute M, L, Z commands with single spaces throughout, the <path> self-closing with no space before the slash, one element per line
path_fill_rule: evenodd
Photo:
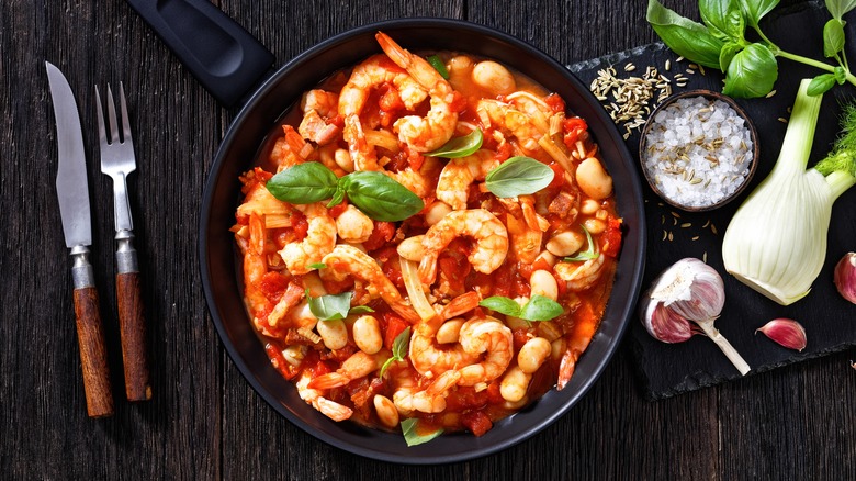
<path fill-rule="evenodd" d="M 452 210 L 466 209 L 470 186 L 476 180 L 484 180 L 485 176 L 498 166 L 499 160 L 487 149 L 449 160 L 437 181 L 437 199 L 449 204 Z"/>

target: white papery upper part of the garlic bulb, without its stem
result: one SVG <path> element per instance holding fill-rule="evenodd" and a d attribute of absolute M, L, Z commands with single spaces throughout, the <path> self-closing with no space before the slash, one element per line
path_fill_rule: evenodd
<path fill-rule="evenodd" d="M 725 304 L 725 287 L 716 269 L 687 257 L 663 271 L 654 281 L 651 298 L 662 301 L 690 321 L 716 318 Z"/>

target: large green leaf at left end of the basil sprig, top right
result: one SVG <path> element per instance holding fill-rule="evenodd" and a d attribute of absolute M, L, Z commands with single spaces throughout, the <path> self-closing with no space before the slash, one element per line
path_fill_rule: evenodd
<path fill-rule="evenodd" d="M 657 0 L 649 0 L 645 19 L 676 54 L 705 67 L 719 68 L 723 42 L 708 32 L 705 25 L 680 16 Z"/>

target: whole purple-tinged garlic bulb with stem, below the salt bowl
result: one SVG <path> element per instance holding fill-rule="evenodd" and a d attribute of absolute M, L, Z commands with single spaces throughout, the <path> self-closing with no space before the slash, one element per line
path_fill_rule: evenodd
<path fill-rule="evenodd" d="M 722 277 L 712 267 L 690 257 L 678 260 L 654 280 L 640 304 L 640 317 L 649 334 L 664 343 L 680 343 L 699 332 L 706 334 L 740 373 L 746 374 L 750 366 L 713 327 L 724 304 Z"/>

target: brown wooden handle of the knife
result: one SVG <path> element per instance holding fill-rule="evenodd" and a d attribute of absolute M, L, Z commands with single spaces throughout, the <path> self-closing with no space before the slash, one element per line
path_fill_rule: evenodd
<path fill-rule="evenodd" d="M 104 332 L 101 327 L 98 291 L 94 287 L 75 289 L 75 316 L 87 412 L 90 417 L 112 416 L 113 394 L 110 390 Z"/>

